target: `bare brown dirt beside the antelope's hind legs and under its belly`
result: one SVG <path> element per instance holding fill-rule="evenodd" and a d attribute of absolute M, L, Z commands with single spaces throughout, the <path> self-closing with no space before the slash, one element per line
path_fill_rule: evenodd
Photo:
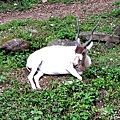
<path fill-rule="evenodd" d="M 7 73 L 7 82 L 3 82 L 0 84 L 0 93 L 3 93 L 3 91 L 6 88 L 11 87 L 11 84 L 9 83 L 12 79 L 16 79 L 19 82 L 25 82 L 26 84 L 29 84 L 30 88 L 30 82 L 27 78 L 29 72 L 26 68 L 19 68 L 17 70 L 11 71 Z M 64 80 L 70 80 L 70 76 L 72 75 L 44 75 L 40 78 L 39 84 L 43 90 L 49 89 L 51 82 L 57 82 L 59 84 L 63 84 Z M 23 86 L 22 86 L 23 87 Z"/>

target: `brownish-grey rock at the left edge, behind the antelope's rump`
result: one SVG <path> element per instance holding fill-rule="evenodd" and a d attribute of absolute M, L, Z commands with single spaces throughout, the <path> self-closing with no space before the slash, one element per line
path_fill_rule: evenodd
<path fill-rule="evenodd" d="M 10 51 L 23 51 L 28 49 L 30 46 L 29 41 L 25 41 L 22 39 L 12 39 L 3 41 L 0 43 L 0 49 L 10 50 Z"/>

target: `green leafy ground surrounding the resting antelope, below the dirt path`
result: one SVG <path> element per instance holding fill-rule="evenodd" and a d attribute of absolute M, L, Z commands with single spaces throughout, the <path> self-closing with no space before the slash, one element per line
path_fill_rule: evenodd
<path fill-rule="evenodd" d="M 118 3 L 117 3 L 118 5 Z M 96 31 L 114 33 L 120 24 L 119 12 L 102 14 Z M 91 30 L 99 16 L 89 16 L 80 22 L 81 31 Z M 106 22 L 107 21 L 107 22 Z M 89 55 L 93 64 L 82 75 L 83 81 L 73 84 L 58 84 L 57 77 L 50 82 L 49 89 L 31 91 L 30 85 L 19 80 L 9 71 L 25 66 L 29 54 L 55 38 L 74 40 L 76 34 L 75 17 L 50 18 L 49 20 L 17 20 L 0 26 L 0 42 L 11 38 L 22 38 L 31 42 L 31 48 L 24 52 L 0 51 L 0 86 L 5 87 L 0 94 L 1 120 L 106 120 L 120 116 L 120 45 L 106 48 L 103 43 L 95 43 Z M 37 30 L 37 33 L 33 33 Z M 64 77 L 64 80 L 66 77 Z"/>

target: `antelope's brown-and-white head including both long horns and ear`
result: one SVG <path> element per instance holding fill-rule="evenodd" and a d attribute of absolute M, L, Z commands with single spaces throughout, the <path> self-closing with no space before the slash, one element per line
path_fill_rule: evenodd
<path fill-rule="evenodd" d="M 85 69 L 86 69 L 85 59 L 86 59 L 87 51 L 90 50 L 91 47 L 93 46 L 93 42 L 92 42 L 93 32 L 99 25 L 100 20 L 95 25 L 95 27 L 92 29 L 90 39 L 87 42 L 85 42 L 84 44 L 81 44 L 81 42 L 80 42 L 80 38 L 79 38 L 80 28 L 79 28 L 78 20 L 79 20 L 79 18 L 77 19 L 78 32 L 75 37 L 76 49 L 75 49 L 75 58 L 74 58 L 73 65 L 75 66 L 75 69 L 79 72 L 79 74 L 82 74 L 83 71 L 85 71 Z"/>

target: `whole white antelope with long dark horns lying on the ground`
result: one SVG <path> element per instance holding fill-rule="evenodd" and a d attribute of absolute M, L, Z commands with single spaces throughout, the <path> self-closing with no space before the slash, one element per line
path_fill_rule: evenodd
<path fill-rule="evenodd" d="M 91 65 L 91 59 L 87 55 L 87 51 L 90 50 L 93 45 L 93 42 L 91 42 L 92 36 L 98 24 L 99 22 L 93 28 L 89 41 L 83 45 L 78 38 L 80 29 L 77 20 L 78 33 L 75 38 L 77 46 L 55 45 L 44 47 L 32 53 L 28 57 L 26 64 L 26 68 L 30 71 L 28 79 L 31 83 L 32 89 L 41 89 L 39 78 L 44 74 L 72 74 L 77 79 L 82 80 L 80 75 L 86 67 Z"/>

